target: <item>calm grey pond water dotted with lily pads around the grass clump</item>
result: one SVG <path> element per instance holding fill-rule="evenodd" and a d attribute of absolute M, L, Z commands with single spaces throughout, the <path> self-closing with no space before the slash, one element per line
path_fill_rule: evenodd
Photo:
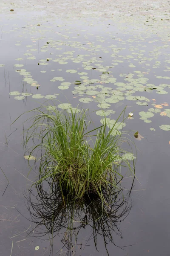
<path fill-rule="evenodd" d="M 36 225 L 29 221 L 24 194 L 29 196 L 36 173 L 27 179 L 29 152 L 21 145 L 28 116 L 13 122 L 44 102 L 69 102 L 89 108 L 95 125 L 103 118 L 101 109 L 116 119 L 127 106 L 126 116 L 133 117 L 126 119 L 125 130 L 142 136 L 133 137 L 137 179 L 127 197 L 130 209 L 117 224 L 120 233 L 114 230 L 108 253 L 167 256 L 169 2 L 0 0 L 0 6 L 0 254 L 55 255 L 63 246 L 64 230 L 52 240 L 36 237 L 36 229 L 30 233 Z M 76 253 L 72 248 L 68 255 L 107 255 L 103 236 L 96 243 L 97 250 L 93 228 L 82 228 Z M 59 255 L 65 253 L 63 247 Z"/>

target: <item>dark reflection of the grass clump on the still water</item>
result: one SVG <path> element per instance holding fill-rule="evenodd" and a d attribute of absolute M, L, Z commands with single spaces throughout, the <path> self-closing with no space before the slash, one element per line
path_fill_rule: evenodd
<path fill-rule="evenodd" d="M 37 195 L 34 195 L 31 189 L 29 190 L 28 209 L 31 213 L 31 220 L 36 224 L 32 235 L 42 237 L 51 233 L 54 238 L 56 233 L 64 230 L 62 248 L 65 247 L 66 255 L 71 255 L 71 253 L 75 255 L 76 245 L 79 244 L 80 229 L 90 226 L 92 233 L 85 240 L 84 246 L 88 241 L 94 239 L 97 250 L 97 238 L 100 236 L 103 238 L 105 249 L 109 255 L 107 244 L 111 242 L 117 246 L 113 240 L 113 233 L 122 238 L 118 224 L 127 217 L 132 207 L 132 204 L 127 201 L 128 198 L 121 196 L 122 193 L 119 190 L 113 192 L 110 197 L 104 194 L 105 204 L 98 195 L 94 195 L 91 199 L 85 196 L 72 200 L 68 200 L 65 195 L 63 200 L 63 195 L 57 184 L 53 181 L 48 184 L 48 190 L 43 189 L 43 183 L 36 184 Z M 112 198 L 112 203 L 108 198 Z"/>

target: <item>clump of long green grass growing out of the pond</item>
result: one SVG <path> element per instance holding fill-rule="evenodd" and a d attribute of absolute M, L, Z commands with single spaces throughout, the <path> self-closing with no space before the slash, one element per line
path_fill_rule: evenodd
<path fill-rule="evenodd" d="M 36 143 L 30 156 L 37 149 L 41 152 L 37 183 L 52 177 L 62 195 L 97 195 L 103 201 L 104 193 L 109 196 L 113 189 L 121 189 L 121 166 L 126 164 L 131 172 L 134 167 L 122 157 L 127 152 L 121 149 L 121 134 L 117 130 L 117 121 L 124 111 L 109 129 L 106 118 L 103 125 L 91 128 L 88 110 L 48 109 L 43 106 L 32 110 L 36 114 L 26 132 L 26 145 L 30 140 Z"/>

